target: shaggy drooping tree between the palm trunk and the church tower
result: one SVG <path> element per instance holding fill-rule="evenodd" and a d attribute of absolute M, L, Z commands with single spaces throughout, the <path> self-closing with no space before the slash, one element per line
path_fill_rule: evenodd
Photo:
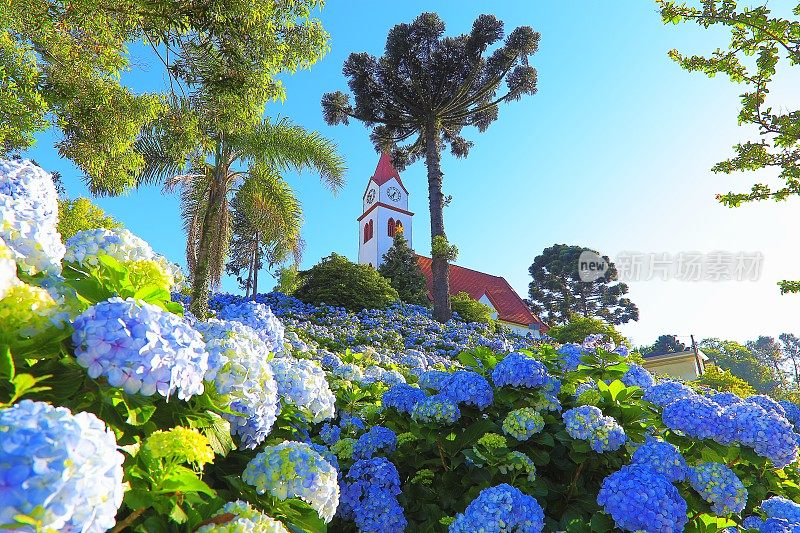
<path fill-rule="evenodd" d="M 247 297 L 255 298 L 258 294 L 258 274 L 265 263 L 271 271 L 290 259 L 299 262 L 302 254 L 300 202 L 288 184 L 279 183 L 282 187 L 277 192 L 283 201 L 277 219 L 270 218 L 275 216 L 274 212 L 248 211 L 249 205 L 238 194 L 231 201 L 231 243 L 225 271 L 236 277 Z"/>

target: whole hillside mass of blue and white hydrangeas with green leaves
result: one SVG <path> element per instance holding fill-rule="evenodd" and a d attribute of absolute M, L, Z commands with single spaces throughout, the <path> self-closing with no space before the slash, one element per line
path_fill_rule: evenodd
<path fill-rule="evenodd" d="M 415 306 L 184 315 L 146 243 L 65 259 L 47 175 L 0 174 L 0 530 L 800 531 L 797 405 Z"/>

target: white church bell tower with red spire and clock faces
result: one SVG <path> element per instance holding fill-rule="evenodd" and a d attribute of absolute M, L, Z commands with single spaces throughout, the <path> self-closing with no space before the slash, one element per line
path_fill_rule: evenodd
<path fill-rule="evenodd" d="M 408 191 L 387 152 L 381 154 L 362 200 L 362 214 L 358 217 L 360 264 L 378 268 L 398 230 L 403 232 L 408 246 L 413 249 L 411 220 L 414 213 L 408 210 Z"/>

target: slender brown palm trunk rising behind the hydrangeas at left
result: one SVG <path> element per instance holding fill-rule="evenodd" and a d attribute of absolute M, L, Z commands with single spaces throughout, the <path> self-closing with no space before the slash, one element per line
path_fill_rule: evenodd
<path fill-rule="evenodd" d="M 208 290 L 211 285 L 211 243 L 219 238 L 219 213 L 225 200 L 225 180 L 222 179 L 222 143 L 218 142 L 214 161 L 214 176 L 208 193 L 208 206 L 203 217 L 200 242 L 197 245 L 197 263 L 192 272 L 192 303 L 189 310 L 200 320 L 208 316 Z"/>

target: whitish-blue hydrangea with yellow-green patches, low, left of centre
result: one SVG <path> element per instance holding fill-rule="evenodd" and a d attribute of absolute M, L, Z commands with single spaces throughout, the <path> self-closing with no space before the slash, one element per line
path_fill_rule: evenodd
<path fill-rule="evenodd" d="M 267 446 L 242 474 L 256 492 L 269 492 L 279 500 L 300 498 L 330 522 L 339 505 L 336 470 L 311 445 L 285 441 Z"/>

